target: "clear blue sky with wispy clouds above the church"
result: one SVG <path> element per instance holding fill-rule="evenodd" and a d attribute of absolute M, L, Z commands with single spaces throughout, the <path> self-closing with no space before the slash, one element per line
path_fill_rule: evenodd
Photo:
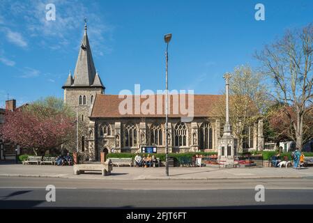
<path fill-rule="evenodd" d="M 56 20 L 45 20 L 54 3 Z M 266 20 L 254 20 L 263 3 Z M 106 93 L 165 88 L 165 33 L 169 89 L 218 94 L 222 75 L 235 66 L 258 66 L 255 50 L 286 29 L 313 21 L 313 1 L 7 1 L 0 4 L 0 107 L 7 93 L 17 105 L 47 95 L 75 69 L 88 18 L 93 60 Z"/>

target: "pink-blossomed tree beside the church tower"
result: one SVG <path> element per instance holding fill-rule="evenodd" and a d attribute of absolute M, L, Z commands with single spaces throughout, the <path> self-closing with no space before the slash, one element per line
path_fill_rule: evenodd
<path fill-rule="evenodd" d="M 1 137 L 42 154 L 75 137 L 75 116 L 62 100 L 45 98 L 26 108 L 7 111 Z"/>

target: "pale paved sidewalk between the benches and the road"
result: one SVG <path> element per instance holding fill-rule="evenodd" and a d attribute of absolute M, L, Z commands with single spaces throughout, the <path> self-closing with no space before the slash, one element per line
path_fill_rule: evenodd
<path fill-rule="evenodd" d="M 35 176 L 104 180 L 213 180 L 240 178 L 313 178 L 313 167 L 303 169 L 252 167 L 218 169 L 214 167 L 171 167 L 169 177 L 165 176 L 165 167 L 113 167 L 111 176 L 100 173 L 73 174 L 73 167 L 57 167 L 51 165 L 5 164 L 0 162 L 0 176 Z"/>

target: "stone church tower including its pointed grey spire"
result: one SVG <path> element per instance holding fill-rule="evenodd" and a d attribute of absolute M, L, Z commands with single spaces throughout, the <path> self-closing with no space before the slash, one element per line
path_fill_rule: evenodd
<path fill-rule="evenodd" d="M 104 94 L 105 86 L 96 71 L 91 54 L 91 47 L 87 36 L 87 25 L 85 19 L 84 36 L 79 48 L 79 54 L 72 76 L 70 72 L 66 83 L 62 86 L 64 89 L 64 102 L 74 110 L 78 111 L 79 118 L 79 151 L 89 152 L 89 114 L 96 94 Z M 93 134 L 93 132 L 91 132 Z"/>

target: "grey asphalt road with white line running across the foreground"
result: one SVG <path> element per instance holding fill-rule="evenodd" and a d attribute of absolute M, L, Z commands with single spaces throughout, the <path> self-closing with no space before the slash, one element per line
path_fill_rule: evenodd
<path fill-rule="evenodd" d="M 47 185 L 56 201 L 47 202 Z M 264 185 L 265 201 L 254 197 Z M 313 208 L 313 179 L 82 180 L 0 177 L 0 208 Z"/>

